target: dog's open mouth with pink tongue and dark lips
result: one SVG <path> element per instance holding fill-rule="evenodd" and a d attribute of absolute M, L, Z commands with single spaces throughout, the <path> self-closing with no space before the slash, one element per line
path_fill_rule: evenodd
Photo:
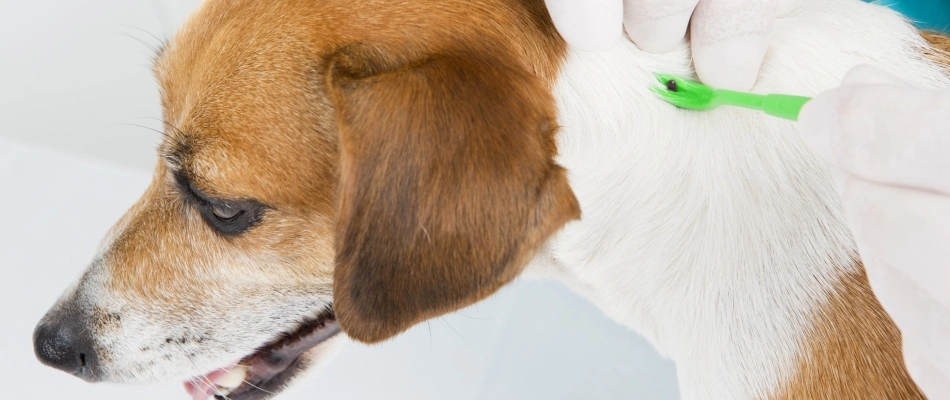
<path fill-rule="evenodd" d="M 280 392 L 298 372 L 306 369 L 301 356 L 340 332 L 328 309 L 305 321 L 292 333 L 262 346 L 230 366 L 185 382 L 192 400 L 259 400 Z"/>

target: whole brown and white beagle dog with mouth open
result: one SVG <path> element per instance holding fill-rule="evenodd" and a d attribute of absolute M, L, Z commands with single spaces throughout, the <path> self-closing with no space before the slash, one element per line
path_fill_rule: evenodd
<path fill-rule="evenodd" d="M 950 41 L 859 0 L 775 23 L 755 91 Z M 827 166 L 792 122 L 655 98 L 687 45 L 568 48 L 541 0 L 208 0 L 157 55 L 151 186 L 34 334 L 87 381 L 262 399 L 519 275 L 677 364 L 685 399 L 915 399 Z M 207 375 L 194 377 L 195 371 Z"/>

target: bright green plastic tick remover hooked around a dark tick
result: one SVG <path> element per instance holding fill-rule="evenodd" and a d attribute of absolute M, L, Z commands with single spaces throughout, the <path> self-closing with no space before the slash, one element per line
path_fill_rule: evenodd
<path fill-rule="evenodd" d="M 810 97 L 787 94 L 760 95 L 713 89 L 699 82 L 688 81 L 667 74 L 654 74 L 663 86 L 650 89 L 660 98 L 679 108 L 688 110 L 712 110 L 719 106 L 735 106 L 765 111 L 766 114 L 798 121 L 798 113 Z"/>

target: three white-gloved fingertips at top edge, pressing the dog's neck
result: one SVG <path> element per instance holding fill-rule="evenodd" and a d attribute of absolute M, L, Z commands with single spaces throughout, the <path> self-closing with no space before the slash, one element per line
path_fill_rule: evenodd
<path fill-rule="evenodd" d="M 693 64 L 707 85 L 749 90 L 759 75 L 778 15 L 795 0 L 545 0 L 568 43 L 600 51 L 622 28 L 644 51 L 673 50 L 690 27 Z"/>

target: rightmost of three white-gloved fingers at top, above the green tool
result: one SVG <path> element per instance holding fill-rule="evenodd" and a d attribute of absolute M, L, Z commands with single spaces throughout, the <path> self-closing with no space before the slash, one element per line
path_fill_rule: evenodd
<path fill-rule="evenodd" d="M 777 8 L 778 0 L 701 0 L 690 23 L 699 79 L 717 88 L 752 89 Z"/>

